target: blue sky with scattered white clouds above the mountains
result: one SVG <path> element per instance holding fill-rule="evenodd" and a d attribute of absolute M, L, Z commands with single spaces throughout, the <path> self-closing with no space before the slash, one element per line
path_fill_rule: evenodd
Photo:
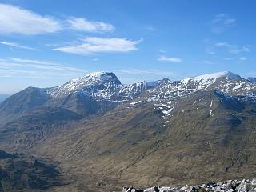
<path fill-rule="evenodd" d="M 0 0 L 0 93 L 92 71 L 123 83 L 256 76 L 254 0 Z"/>

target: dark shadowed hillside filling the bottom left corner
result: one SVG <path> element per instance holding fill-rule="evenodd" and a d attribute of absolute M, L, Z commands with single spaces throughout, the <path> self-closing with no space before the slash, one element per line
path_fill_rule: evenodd
<path fill-rule="evenodd" d="M 46 191 L 67 184 L 56 163 L 0 150 L 0 191 Z"/>

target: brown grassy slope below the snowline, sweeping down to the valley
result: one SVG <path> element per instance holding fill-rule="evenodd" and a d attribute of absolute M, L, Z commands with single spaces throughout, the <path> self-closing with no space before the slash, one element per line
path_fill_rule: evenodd
<path fill-rule="evenodd" d="M 209 113 L 212 100 L 214 116 Z M 226 103 L 223 106 L 213 91 L 193 94 L 177 103 L 166 125 L 153 104 L 127 104 L 46 139 L 34 153 L 62 162 L 77 176 L 78 188 L 254 177 L 255 109 L 242 102 Z"/>

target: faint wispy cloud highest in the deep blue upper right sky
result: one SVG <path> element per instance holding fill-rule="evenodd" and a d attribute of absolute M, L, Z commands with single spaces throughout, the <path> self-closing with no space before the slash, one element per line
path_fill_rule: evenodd
<path fill-rule="evenodd" d="M 236 19 L 231 18 L 230 14 L 216 14 L 211 21 L 211 30 L 216 34 L 221 34 L 226 29 L 235 26 Z"/>

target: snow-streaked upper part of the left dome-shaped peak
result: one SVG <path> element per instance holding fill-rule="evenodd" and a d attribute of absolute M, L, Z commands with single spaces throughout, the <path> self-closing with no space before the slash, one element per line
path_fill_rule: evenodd
<path fill-rule="evenodd" d="M 65 97 L 67 94 L 78 91 L 96 100 L 125 102 L 138 96 L 144 90 L 158 86 L 160 82 L 137 82 L 124 85 L 113 73 L 94 72 L 86 74 L 82 78 L 75 78 L 62 86 L 45 89 L 45 91 L 53 98 Z"/>

